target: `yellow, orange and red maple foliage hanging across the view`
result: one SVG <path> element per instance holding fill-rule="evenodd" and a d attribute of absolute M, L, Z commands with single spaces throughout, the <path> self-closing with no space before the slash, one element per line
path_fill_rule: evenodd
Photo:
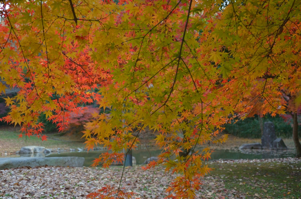
<path fill-rule="evenodd" d="M 287 107 L 281 90 L 299 96 L 299 1 L 2 3 L 0 77 L 20 88 L 6 99 L 11 111 L 3 119 L 22 126 L 20 137 L 45 140 L 41 114 L 63 130 L 70 113 L 82 113 L 79 104 L 97 101 L 110 113 L 93 114 L 86 147 L 112 152 L 93 165 L 123 161 L 120 151 L 135 149 L 139 132 L 153 129 L 162 154 L 145 169 L 164 164 L 178 173 L 170 198 L 194 197 L 210 171 L 204 160 L 212 151 L 200 146 L 224 142 L 227 135 L 217 135 L 247 117 L 250 102 L 264 99 L 262 113 L 276 115 Z M 89 197 L 111 197 L 101 194 L 107 190 Z"/>

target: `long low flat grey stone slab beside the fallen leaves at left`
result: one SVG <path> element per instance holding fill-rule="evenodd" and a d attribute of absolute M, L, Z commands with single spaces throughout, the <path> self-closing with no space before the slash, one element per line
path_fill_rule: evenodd
<path fill-rule="evenodd" d="M 0 170 L 22 166 L 70 166 L 82 167 L 83 157 L 4 157 L 0 158 Z"/>

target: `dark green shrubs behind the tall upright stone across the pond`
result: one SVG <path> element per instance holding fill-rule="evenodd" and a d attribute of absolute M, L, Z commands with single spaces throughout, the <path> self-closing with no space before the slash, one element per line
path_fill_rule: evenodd
<path fill-rule="evenodd" d="M 268 121 L 273 122 L 277 137 L 291 138 L 293 132 L 293 127 L 291 126 L 292 123 L 289 123 L 289 120 L 284 120 L 283 117 L 287 117 L 287 115 L 277 115 L 272 117 L 268 114 L 263 117 L 263 123 Z M 298 134 L 300 136 L 301 128 L 298 128 L 298 130 Z M 240 138 L 261 138 L 258 116 L 255 115 L 254 117 L 247 117 L 246 119 L 240 120 L 237 123 L 227 124 L 224 133 Z"/>

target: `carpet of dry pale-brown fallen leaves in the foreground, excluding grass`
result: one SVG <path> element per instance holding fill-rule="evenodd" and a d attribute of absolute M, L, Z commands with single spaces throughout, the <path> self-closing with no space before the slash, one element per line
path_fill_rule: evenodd
<path fill-rule="evenodd" d="M 49 166 L 3 170 L 0 198 L 85 198 L 89 192 L 104 185 L 117 187 L 121 174 L 121 167 L 94 169 Z M 121 187 L 125 191 L 134 191 L 137 193 L 136 197 L 163 198 L 171 179 L 171 175 L 164 173 L 162 167 L 147 171 L 132 167 L 126 168 Z M 204 179 L 203 188 L 214 190 L 219 198 L 223 198 L 225 192 L 228 192 L 224 187 L 225 184 L 214 177 Z M 203 194 L 212 193 L 210 191 Z M 201 193 L 196 198 L 201 198 L 200 195 Z"/>

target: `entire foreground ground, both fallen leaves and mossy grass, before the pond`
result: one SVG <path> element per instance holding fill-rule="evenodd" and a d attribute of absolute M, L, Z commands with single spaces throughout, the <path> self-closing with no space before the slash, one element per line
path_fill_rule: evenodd
<path fill-rule="evenodd" d="M 215 168 L 203 178 L 195 198 L 301 198 L 301 159 L 209 162 Z M 104 186 L 118 186 L 121 167 L 17 168 L 0 171 L 0 198 L 85 198 Z M 163 167 L 126 168 L 121 187 L 140 198 L 163 198 L 172 176 Z"/>

